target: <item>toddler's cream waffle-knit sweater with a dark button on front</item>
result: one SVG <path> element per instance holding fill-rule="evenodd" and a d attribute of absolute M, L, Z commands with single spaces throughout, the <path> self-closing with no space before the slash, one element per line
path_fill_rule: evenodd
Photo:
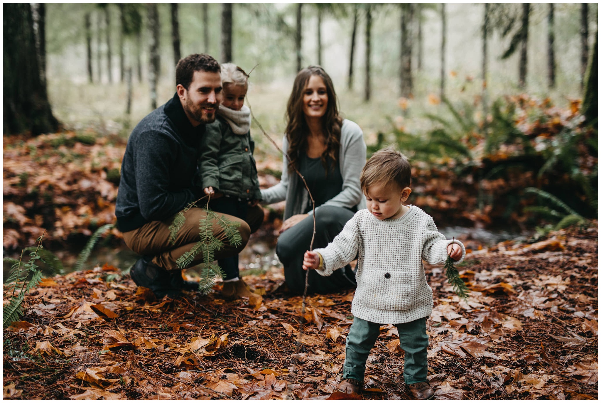
<path fill-rule="evenodd" d="M 422 259 L 443 263 L 448 241 L 438 232 L 430 215 L 409 206 L 396 220 L 378 220 L 365 209 L 356 212 L 334 241 L 314 250 L 323 256 L 321 275 L 331 275 L 355 257 L 357 289 L 352 313 L 365 321 L 397 324 L 432 313 L 432 289 L 426 283 Z M 465 257 L 462 248 L 461 262 Z"/>

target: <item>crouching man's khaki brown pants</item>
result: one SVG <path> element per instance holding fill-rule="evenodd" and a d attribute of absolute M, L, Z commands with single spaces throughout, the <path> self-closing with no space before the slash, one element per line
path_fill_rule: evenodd
<path fill-rule="evenodd" d="M 215 251 L 215 260 L 233 256 L 244 249 L 251 233 L 255 232 L 261 226 L 261 223 L 263 223 L 263 208 L 258 205 L 249 207 L 246 221 L 227 214 L 219 215 L 235 223 L 240 223 L 238 230 L 242 236 L 242 244 L 237 247 L 230 245 L 221 225 L 219 225 L 218 221 L 213 220 L 213 235 L 224 242 L 221 250 Z M 191 250 L 200 241 L 200 236 L 198 235 L 200 230 L 198 227 L 200 220 L 206 219 L 206 213 L 200 208 L 191 208 L 186 211 L 184 214 L 186 222 L 177 233 L 174 244 L 171 244 L 169 242 L 169 226 L 174 217 L 163 221 L 151 221 L 135 230 L 124 232 L 123 240 L 135 253 L 142 256 L 153 256 L 152 262 L 157 266 L 167 270 L 177 269 L 177 259 Z M 197 265 L 202 261 L 203 254 L 199 253 L 189 266 Z"/>

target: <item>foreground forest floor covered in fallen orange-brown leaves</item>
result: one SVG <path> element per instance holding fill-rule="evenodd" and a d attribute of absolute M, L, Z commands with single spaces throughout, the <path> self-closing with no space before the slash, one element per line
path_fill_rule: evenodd
<path fill-rule="evenodd" d="M 597 221 L 475 249 L 458 267 L 467 301 L 426 268 L 435 399 L 597 399 Z M 302 297 L 278 291 L 281 268 L 245 281 L 262 297 L 227 302 L 218 283 L 155 300 L 110 265 L 45 279 L 4 331 L 4 398 L 358 398 L 335 392 L 353 291 L 308 296 L 302 319 Z M 397 330 L 383 325 L 363 398 L 409 399 L 402 375 Z"/>

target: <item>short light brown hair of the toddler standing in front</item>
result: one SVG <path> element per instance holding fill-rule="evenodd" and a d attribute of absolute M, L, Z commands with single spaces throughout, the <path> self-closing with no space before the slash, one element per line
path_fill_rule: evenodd
<path fill-rule="evenodd" d="M 364 193 L 375 183 L 388 185 L 394 182 L 400 189 L 404 189 L 411 184 L 411 165 L 403 153 L 387 147 L 371 156 L 363 167 L 359 180 Z"/>

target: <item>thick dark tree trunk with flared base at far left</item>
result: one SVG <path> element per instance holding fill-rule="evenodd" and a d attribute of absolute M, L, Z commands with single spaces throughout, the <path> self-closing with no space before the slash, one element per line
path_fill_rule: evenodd
<path fill-rule="evenodd" d="M 2 5 L 4 11 L 4 132 L 55 132 L 46 85 L 42 83 L 29 3 Z M 43 15 L 43 14 L 42 14 Z"/>

